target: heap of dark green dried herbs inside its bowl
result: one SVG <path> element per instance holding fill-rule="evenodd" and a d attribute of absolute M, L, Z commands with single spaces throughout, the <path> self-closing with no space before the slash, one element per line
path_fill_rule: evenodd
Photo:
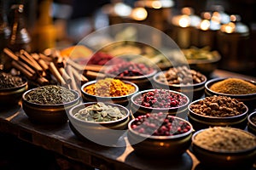
<path fill-rule="evenodd" d="M 56 86 L 46 85 L 35 88 L 26 94 L 26 100 L 31 103 L 44 105 L 57 105 L 71 102 L 76 99 L 76 95 L 69 89 Z"/>

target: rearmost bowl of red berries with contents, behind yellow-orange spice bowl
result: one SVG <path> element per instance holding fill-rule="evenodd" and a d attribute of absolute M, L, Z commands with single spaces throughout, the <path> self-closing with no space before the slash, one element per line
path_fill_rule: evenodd
<path fill-rule="evenodd" d="M 133 82 L 137 84 L 140 90 L 152 86 L 151 81 L 156 72 L 157 70 L 153 66 L 131 61 L 110 65 L 106 69 L 108 77 Z"/>

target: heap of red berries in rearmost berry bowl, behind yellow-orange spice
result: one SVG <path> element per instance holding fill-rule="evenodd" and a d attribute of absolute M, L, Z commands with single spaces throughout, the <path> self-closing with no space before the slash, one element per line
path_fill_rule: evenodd
<path fill-rule="evenodd" d="M 153 68 L 143 63 L 125 62 L 111 66 L 107 73 L 119 77 L 138 77 L 148 75 L 153 71 Z"/>

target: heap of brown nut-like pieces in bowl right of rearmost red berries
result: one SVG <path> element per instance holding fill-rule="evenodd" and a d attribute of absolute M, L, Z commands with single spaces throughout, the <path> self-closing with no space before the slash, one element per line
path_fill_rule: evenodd
<path fill-rule="evenodd" d="M 177 66 L 160 74 L 157 80 L 165 84 L 190 85 L 204 82 L 205 77 L 199 71 L 190 70 L 187 66 Z"/>

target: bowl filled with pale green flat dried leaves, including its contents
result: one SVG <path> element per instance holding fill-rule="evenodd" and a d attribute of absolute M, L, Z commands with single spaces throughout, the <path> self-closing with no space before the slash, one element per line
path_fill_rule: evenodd
<path fill-rule="evenodd" d="M 75 105 L 67 116 L 79 139 L 108 146 L 119 142 L 130 121 L 130 111 L 125 106 L 108 102 Z"/>

